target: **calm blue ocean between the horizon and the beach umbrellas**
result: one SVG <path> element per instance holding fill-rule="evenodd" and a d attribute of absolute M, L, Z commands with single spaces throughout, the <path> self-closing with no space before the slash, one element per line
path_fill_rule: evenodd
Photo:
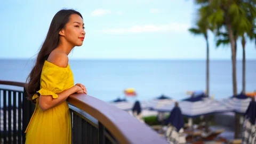
<path fill-rule="evenodd" d="M 0 59 L 0 79 L 25 82 L 34 61 Z M 70 60 L 75 83 L 86 86 L 89 95 L 103 101 L 124 98 L 133 87 L 137 97 L 150 100 L 165 94 L 175 100 L 186 91 L 205 90 L 205 60 Z M 246 91 L 256 90 L 256 60 L 246 61 Z M 210 96 L 228 98 L 233 93 L 231 60 L 210 61 Z M 3 87 L 3 85 L 0 87 Z M 237 61 L 237 89 L 242 91 L 242 61 Z"/>

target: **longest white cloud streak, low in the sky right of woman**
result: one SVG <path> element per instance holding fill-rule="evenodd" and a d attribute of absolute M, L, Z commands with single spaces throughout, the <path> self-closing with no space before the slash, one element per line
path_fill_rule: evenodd
<path fill-rule="evenodd" d="M 186 23 L 170 23 L 167 25 L 135 25 L 130 28 L 103 29 L 103 33 L 124 34 L 124 33 L 148 33 L 148 32 L 183 32 L 187 31 L 189 25 Z"/>

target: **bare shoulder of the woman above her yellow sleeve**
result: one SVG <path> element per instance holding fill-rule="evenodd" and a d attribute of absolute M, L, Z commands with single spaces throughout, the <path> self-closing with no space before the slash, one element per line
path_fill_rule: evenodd
<path fill-rule="evenodd" d="M 47 61 L 59 67 L 66 68 L 68 66 L 68 55 L 59 51 L 52 51 Z"/>

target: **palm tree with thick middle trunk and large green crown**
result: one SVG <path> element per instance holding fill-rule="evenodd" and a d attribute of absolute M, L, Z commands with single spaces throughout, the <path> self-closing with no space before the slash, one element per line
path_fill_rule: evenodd
<path fill-rule="evenodd" d="M 255 0 L 254 0 L 255 1 Z M 237 95 L 237 81 L 236 81 L 236 40 L 237 35 L 241 36 L 239 31 L 248 31 L 250 29 L 250 20 L 247 17 L 248 7 L 253 7 L 251 1 L 207 1 L 197 0 L 201 6 L 209 6 L 207 11 L 201 11 L 201 17 L 207 18 L 209 25 L 219 31 L 220 28 L 224 28 L 228 34 L 228 39 L 231 45 L 231 60 L 232 60 L 232 79 L 233 79 L 233 95 Z M 242 6 L 241 6 L 242 5 Z M 239 31 L 238 31 L 239 30 Z M 239 33 L 239 34 L 238 34 Z M 217 33 L 218 34 L 218 33 Z M 235 138 L 238 138 L 239 130 L 239 116 L 236 114 L 236 130 Z"/>

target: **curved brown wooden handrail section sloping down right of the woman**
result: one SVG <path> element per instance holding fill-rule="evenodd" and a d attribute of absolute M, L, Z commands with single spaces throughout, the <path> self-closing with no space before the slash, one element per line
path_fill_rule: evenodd
<path fill-rule="evenodd" d="M 121 143 L 166 143 L 149 126 L 107 102 L 86 94 L 72 94 L 67 101 L 98 119 Z"/>

